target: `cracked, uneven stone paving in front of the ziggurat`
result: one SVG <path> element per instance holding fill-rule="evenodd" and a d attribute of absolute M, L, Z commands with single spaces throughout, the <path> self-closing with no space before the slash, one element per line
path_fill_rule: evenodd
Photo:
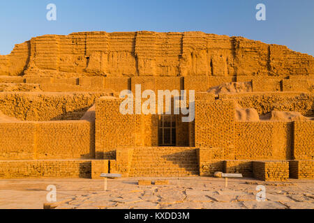
<path fill-rule="evenodd" d="M 137 185 L 167 179 L 169 185 Z M 0 180 L 0 208 L 43 208 L 47 185 L 57 187 L 57 208 L 314 208 L 314 180 L 265 183 L 251 178 L 117 178 Z M 257 201 L 257 185 L 266 201 Z"/>

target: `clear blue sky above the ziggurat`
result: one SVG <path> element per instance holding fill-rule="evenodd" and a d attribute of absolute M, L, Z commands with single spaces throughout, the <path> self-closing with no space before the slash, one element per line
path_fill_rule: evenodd
<path fill-rule="evenodd" d="M 46 6 L 57 6 L 57 21 Z M 266 21 L 255 20 L 257 3 Z M 203 31 L 314 55 L 314 0 L 10 0 L 0 2 L 0 54 L 33 36 L 77 31 Z"/>

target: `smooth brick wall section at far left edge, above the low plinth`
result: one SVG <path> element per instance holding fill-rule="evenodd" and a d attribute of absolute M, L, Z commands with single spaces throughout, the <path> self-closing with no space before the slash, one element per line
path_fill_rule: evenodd
<path fill-rule="evenodd" d="M 0 160 L 34 158 L 35 123 L 0 123 L 0 132 Z"/>

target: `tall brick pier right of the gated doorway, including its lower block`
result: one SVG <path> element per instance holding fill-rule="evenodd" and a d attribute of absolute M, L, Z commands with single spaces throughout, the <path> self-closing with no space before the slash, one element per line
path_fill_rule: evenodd
<path fill-rule="evenodd" d="M 223 171 L 223 160 L 234 148 L 234 102 L 197 94 L 194 125 L 192 135 L 199 148 L 200 175 L 213 176 L 215 171 Z"/>

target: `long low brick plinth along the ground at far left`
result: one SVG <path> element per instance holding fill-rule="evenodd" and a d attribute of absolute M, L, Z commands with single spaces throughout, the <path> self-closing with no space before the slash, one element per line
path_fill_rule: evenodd
<path fill-rule="evenodd" d="M 0 161 L 0 178 L 91 178 L 91 160 Z"/>

